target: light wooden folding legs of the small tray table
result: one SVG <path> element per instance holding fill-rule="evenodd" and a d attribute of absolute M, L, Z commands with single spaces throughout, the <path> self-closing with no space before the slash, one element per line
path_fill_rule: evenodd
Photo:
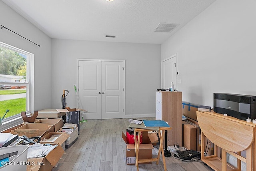
<path fill-rule="evenodd" d="M 139 163 L 145 163 L 145 162 L 156 161 L 156 164 L 158 165 L 161 152 L 162 152 L 162 157 L 163 157 L 164 170 L 166 171 L 166 164 L 165 164 L 165 158 L 164 158 L 164 148 L 163 148 L 164 131 L 165 131 L 165 130 L 171 130 L 171 129 L 172 129 L 171 127 L 160 127 L 159 130 L 158 130 L 160 146 L 159 146 L 159 151 L 158 151 L 158 156 L 157 156 L 157 158 L 152 158 L 152 159 L 138 159 L 141 132 L 143 132 L 143 131 L 151 131 L 151 129 L 134 128 L 134 135 L 136 135 L 136 133 L 138 132 L 138 141 L 137 141 L 137 136 L 134 136 L 134 139 L 135 139 L 135 155 L 136 155 L 136 167 L 137 167 L 137 171 L 139 170 Z M 136 143 L 136 142 L 137 142 L 137 143 Z"/>

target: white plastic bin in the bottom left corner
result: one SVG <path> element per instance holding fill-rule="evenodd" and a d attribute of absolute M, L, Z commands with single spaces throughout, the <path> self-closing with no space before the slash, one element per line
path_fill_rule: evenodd
<path fill-rule="evenodd" d="M 28 145 L 0 148 L 0 171 L 26 171 Z M 5 165 L 6 164 L 6 165 Z"/>

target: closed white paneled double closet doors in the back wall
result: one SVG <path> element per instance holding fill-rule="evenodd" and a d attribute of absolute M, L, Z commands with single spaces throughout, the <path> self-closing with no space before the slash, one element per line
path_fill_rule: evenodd
<path fill-rule="evenodd" d="M 124 60 L 78 59 L 78 94 L 84 119 L 124 118 Z"/>

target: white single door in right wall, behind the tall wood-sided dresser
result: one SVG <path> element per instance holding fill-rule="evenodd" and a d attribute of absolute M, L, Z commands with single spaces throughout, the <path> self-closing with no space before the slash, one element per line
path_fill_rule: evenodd
<path fill-rule="evenodd" d="M 162 88 L 168 89 L 173 82 L 174 89 L 177 89 L 177 55 L 173 55 L 162 61 Z"/>

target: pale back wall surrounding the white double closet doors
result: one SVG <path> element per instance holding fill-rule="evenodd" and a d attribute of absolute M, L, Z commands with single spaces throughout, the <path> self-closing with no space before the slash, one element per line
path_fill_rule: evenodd
<path fill-rule="evenodd" d="M 60 108 L 63 89 L 67 105 L 76 106 L 76 59 L 126 61 L 125 117 L 154 116 L 155 91 L 160 87 L 159 44 L 52 40 L 52 108 Z"/>

